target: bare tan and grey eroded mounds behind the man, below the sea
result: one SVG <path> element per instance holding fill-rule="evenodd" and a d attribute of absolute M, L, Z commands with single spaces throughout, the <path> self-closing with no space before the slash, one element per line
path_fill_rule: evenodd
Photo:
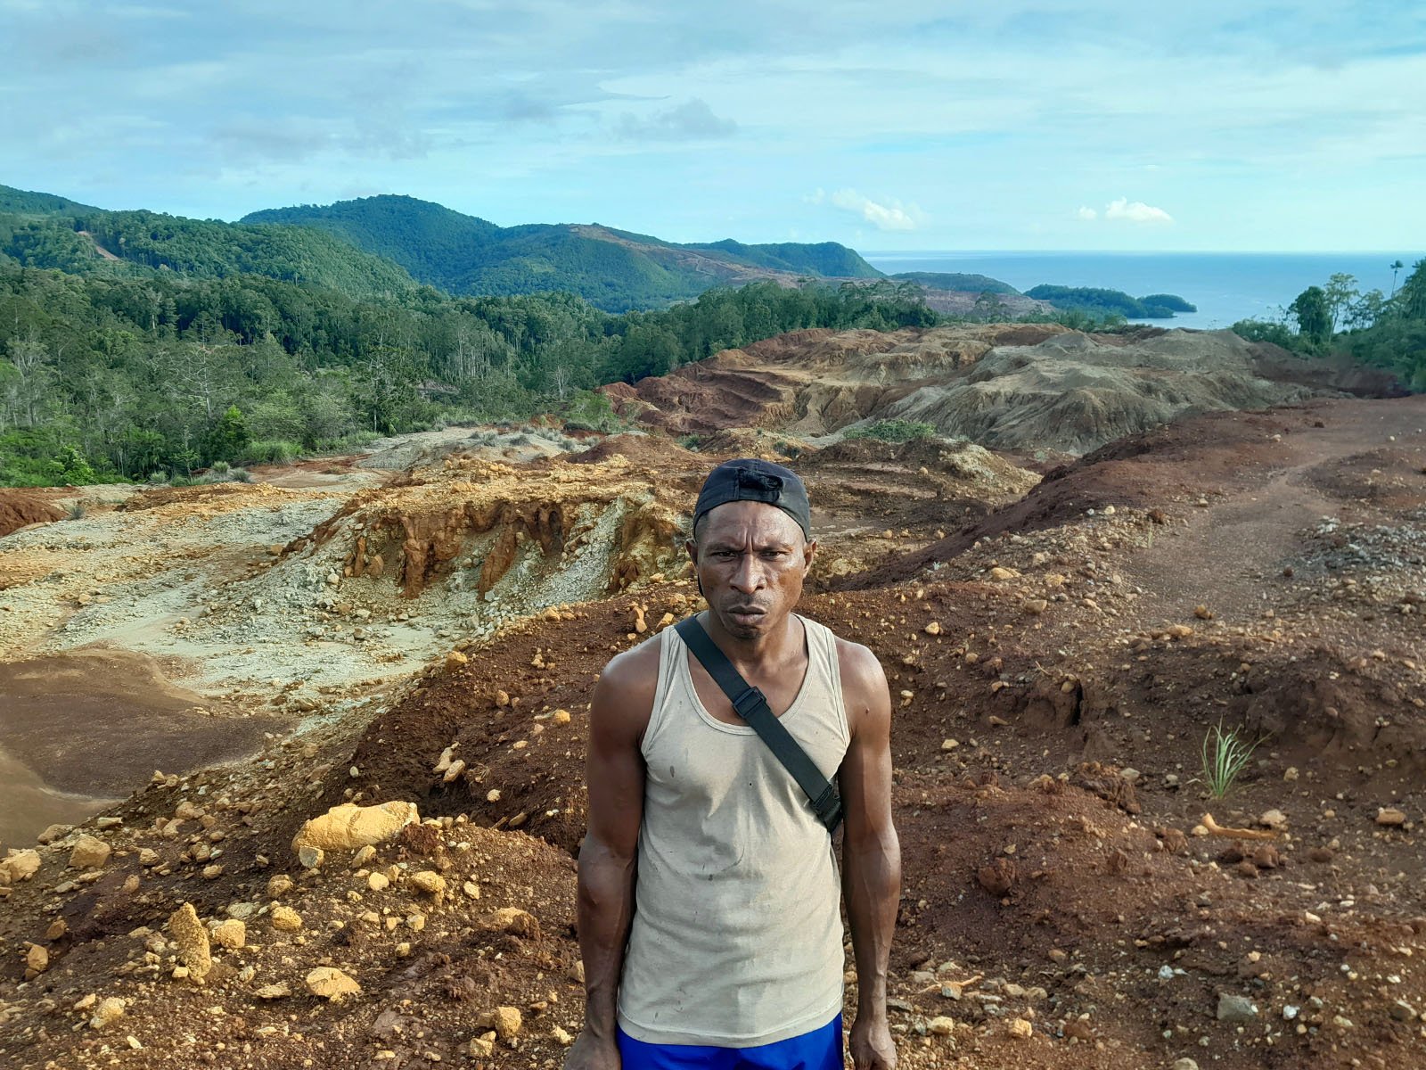
<path fill-rule="evenodd" d="M 760 427 L 816 437 L 911 419 L 991 448 L 1081 454 L 1191 412 L 1313 394 L 1263 378 L 1265 367 L 1231 331 L 983 324 L 796 331 L 603 391 L 623 415 L 672 434 Z"/>

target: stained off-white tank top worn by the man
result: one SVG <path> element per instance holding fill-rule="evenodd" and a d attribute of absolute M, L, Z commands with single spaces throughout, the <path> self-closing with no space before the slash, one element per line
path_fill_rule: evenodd
<path fill-rule="evenodd" d="M 780 720 L 831 779 L 850 739 L 837 641 L 797 619 L 807 676 Z M 703 708 L 677 632 L 659 642 L 619 1026 L 650 1044 L 720 1047 L 810 1033 L 841 1010 L 831 839 L 761 738 Z"/>

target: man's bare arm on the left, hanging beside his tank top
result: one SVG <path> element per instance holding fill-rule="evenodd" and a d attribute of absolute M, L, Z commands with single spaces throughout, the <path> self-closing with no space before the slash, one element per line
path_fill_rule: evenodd
<path fill-rule="evenodd" d="M 589 832 L 579 849 L 579 950 L 585 960 L 585 1029 L 566 1070 L 617 1070 L 619 974 L 633 920 L 645 768 L 639 745 L 653 709 L 659 645 L 609 663 L 589 709 Z"/>

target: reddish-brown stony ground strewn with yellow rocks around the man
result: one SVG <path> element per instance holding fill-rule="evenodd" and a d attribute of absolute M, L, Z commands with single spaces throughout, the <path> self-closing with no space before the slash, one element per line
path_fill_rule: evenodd
<path fill-rule="evenodd" d="M 1423 1061 L 1423 428 L 1420 398 L 1216 414 L 1038 484 L 1035 465 L 967 447 L 791 461 L 831 532 L 803 611 L 873 648 L 897 706 L 903 1066 Z M 292 633 L 254 643 L 278 679 L 214 712 L 261 708 L 258 753 L 155 762 L 125 802 L 21 845 L 34 853 L 4 863 L 0 906 L 0 1063 L 559 1064 L 582 999 L 589 692 L 612 652 L 697 608 L 673 521 L 709 457 L 633 438 L 502 461 L 509 477 L 493 464 L 435 459 L 334 499 L 307 488 L 307 529 L 294 521 L 278 554 L 261 545 L 265 492 L 238 492 L 251 502 L 222 515 L 252 539 L 220 605 L 254 584 L 279 602 L 285 584 L 317 612 L 292 633 L 339 628 L 344 651 L 369 649 L 356 628 L 385 643 L 401 613 L 459 609 L 389 679 L 344 683 L 342 706 L 294 698 Z M 582 521 L 566 504 L 620 501 L 586 539 L 613 548 L 590 591 L 570 579 Z M 173 539 L 211 524 L 183 526 L 180 506 L 227 504 L 160 494 L 116 515 L 171 509 L 144 531 Z M 73 524 L 0 554 L 54 545 L 47 582 L 103 591 L 63 556 Z M 304 562 L 337 584 L 304 585 Z M 165 605 L 134 595 L 137 612 L 153 598 Z M 472 623 L 472 605 L 509 612 Z M 30 648 L 64 649 L 74 611 L 26 632 Z M 1258 745 L 1225 798 L 1201 773 L 1216 725 Z M 389 800 L 424 823 L 369 850 L 294 849 L 329 807 Z"/>

